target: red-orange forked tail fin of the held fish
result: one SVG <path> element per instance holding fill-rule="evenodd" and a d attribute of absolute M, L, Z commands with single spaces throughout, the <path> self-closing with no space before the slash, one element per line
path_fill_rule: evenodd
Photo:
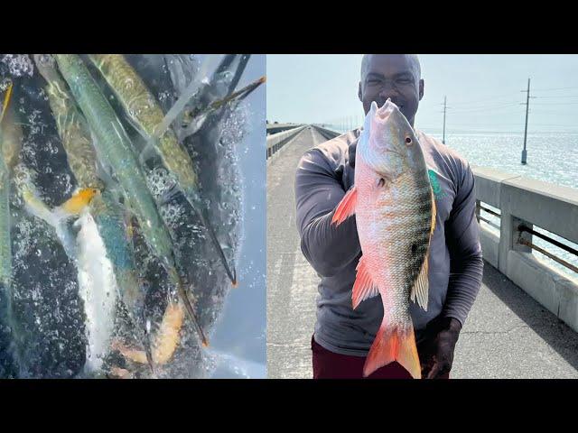
<path fill-rule="evenodd" d="M 422 378 L 422 368 L 419 364 L 417 347 L 415 345 L 414 327 L 386 328 L 382 323 L 379 327 L 368 357 L 363 367 L 363 377 L 394 361 L 401 364 L 414 379 Z"/>

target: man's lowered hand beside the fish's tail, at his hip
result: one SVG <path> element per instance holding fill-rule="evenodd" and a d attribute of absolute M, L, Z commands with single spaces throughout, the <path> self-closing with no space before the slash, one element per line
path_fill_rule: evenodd
<path fill-rule="evenodd" d="M 450 372 L 460 330 L 456 318 L 434 318 L 430 322 L 420 350 L 423 378 L 436 379 Z"/>

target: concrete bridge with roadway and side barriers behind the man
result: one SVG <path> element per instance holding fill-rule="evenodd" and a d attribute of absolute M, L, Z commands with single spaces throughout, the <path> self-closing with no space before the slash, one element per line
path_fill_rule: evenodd
<path fill-rule="evenodd" d="M 337 135 L 302 124 L 267 136 L 270 378 L 312 377 L 319 277 L 301 252 L 294 175 L 303 152 Z M 578 191 L 498 170 L 476 167 L 474 174 L 484 276 L 461 330 L 452 378 L 578 378 L 578 280 L 530 253 L 541 248 L 541 228 L 578 244 Z"/>

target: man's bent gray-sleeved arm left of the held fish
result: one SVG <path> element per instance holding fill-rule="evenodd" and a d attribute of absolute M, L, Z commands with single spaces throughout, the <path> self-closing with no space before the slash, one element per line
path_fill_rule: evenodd
<path fill-rule="evenodd" d="M 346 166 L 346 170 L 352 170 Z M 351 263 L 361 252 L 355 217 L 331 225 L 335 207 L 345 196 L 330 162 L 320 150 L 303 155 L 295 177 L 297 228 L 301 250 L 313 269 L 329 277 Z"/>

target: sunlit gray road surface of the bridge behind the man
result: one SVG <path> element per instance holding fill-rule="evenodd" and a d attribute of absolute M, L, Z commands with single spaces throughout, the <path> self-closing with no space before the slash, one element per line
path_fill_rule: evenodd
<path fill-rule="evenodd" d="M 301 253 L 294 174 L 325 139 L 305 129 L 267 162 L 267 376 L 311 378 L 319 277 Z M 456 345 L 453 379 L 578 379 L 578 334 L 488 263 Z"/>

